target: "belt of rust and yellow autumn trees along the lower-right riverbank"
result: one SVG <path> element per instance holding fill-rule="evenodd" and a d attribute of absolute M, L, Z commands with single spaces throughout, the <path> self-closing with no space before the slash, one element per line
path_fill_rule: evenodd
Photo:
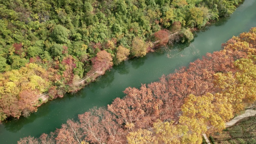
<path fill-rule="evenodd" d="M 18 144 L 202 143 L 202 134 L 221 132 L 234 114 L 255 103 L 255 39 L 251 28 L 158 82 L 125 89 L 126 96 L 107 108 L 92 108 L 79 121 Z"/>

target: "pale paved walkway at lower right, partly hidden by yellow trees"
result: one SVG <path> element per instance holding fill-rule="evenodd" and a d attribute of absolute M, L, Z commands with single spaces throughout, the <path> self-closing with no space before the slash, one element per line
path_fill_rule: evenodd
<path fill-rule="evenodd" d="M 256 115 L 256 110 L 253 110 L 252 108 L 247 109 L 244 114 L 241 114 L 241 115 L 235 117 L 234 119 L 232 119 L 231 121 L 226 122 L 226 128 L 228 128 L 232 125 L 235 125 L 235 123 L 237 123 L 241 119 L 244 119 L 244 118 L 250 117 L 250 116 L 255 116 L 255 115 Z M 204 136 L 204 139 L 207 142 L 207 144 L 211 144 L 210 141 L 208 140 L 208 137 L 206 136 L 206 134 L 203 134 L 203 136 Z"/>

